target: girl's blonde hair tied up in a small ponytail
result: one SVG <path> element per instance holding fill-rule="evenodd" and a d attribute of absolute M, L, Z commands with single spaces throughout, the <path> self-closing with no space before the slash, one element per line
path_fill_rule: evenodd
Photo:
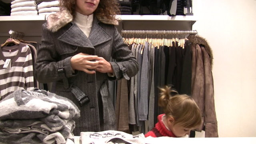
<path fill-rule="evenodd" d="M 158 105 L 164 108 L 166 116 L 174 118 L 174 125 L 196 128 L 202 123 L 200 109 L 191 96 L 178 94 L 170 86 L 160 88 Z"/>

